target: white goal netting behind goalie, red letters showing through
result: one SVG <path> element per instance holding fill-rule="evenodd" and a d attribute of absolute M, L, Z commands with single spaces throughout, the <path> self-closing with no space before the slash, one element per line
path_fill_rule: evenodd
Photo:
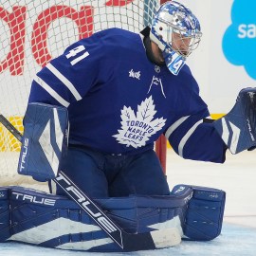
<path fill-rule="evenodd" d="M 164 2 L 0 0 L 0 113 L 23 133 L 30 84 L 42 66 L 101 29 L 139 32 Z M 155 150 L 165 169 L 165 138 Z M 27 183 L 16 174 L 19 151 L 20 142 L 0 125 L 0 186 Z"/>

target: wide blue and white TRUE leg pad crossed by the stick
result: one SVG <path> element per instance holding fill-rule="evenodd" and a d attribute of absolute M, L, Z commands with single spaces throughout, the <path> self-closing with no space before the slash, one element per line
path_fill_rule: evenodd
<path fill-rule="evenodd" d="M 180 214 L 191 197 L 192 189 L 186 187 L 174 195 L 131 195 L 96 199 L 95 202 L 124 231 L 151 232 L 155 241 L 158 234 L 161 234 L 160 237 L 165 234 L 174 239 L 174 246 L 181 241 Z M 9 223 L 11 234 L 0 232 L 1 242 L 9 238 L 10 241 L 41 247 L 122 251 L 86 212 L 65 196 L 13 187 L 9 190 L 9 201 L 11 217 L 5 223 Z M 158 241 L 160 244 L 164 242 Z M 166 247 L 165 244 L 160 244 L 157 246 Z M 170 247 L 170 244 L 168 245 Z"/>

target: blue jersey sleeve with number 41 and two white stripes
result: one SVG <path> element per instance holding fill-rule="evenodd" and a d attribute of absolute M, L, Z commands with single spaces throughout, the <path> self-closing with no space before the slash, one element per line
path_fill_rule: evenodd
<path fill-rule="evenodd" d="M 102 71 L 104 52 L 101 36 L 97 33 L 69 46 L 63 55 L 36 74 L 28 102 L 68 107 L 70 103 L 82 100 L 106 74 Z"/>

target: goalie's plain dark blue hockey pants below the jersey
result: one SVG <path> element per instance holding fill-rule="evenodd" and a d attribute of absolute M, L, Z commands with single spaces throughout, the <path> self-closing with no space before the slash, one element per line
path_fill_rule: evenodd
<path fill-rule="evenodd" d="M 170 193 L 154 150 L 137 155 L 108 155 L 70 146 L 62 171 L 92 198 Z M 58 187 L 56 193 L 64 194 Z"/>

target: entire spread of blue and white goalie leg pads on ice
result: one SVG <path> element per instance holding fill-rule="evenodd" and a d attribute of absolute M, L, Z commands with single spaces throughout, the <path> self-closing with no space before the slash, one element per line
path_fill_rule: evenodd
<path fill-rule="evenodd" d="M 0 188 L 0 194 L 0 242 L 123 251 L 86 212 L 64 196 L 19 187 Z M 161 248 L 171 246 L 164 239 L 172 240 L 175 246 L 181 236 L 193 241 L 217 237 L 222 228 L 225 192 L 177 185 L 166 196 L 131 195 L 96 202 L 120 228 L 128 233 L 151 232 L 156 247 Z"/>

